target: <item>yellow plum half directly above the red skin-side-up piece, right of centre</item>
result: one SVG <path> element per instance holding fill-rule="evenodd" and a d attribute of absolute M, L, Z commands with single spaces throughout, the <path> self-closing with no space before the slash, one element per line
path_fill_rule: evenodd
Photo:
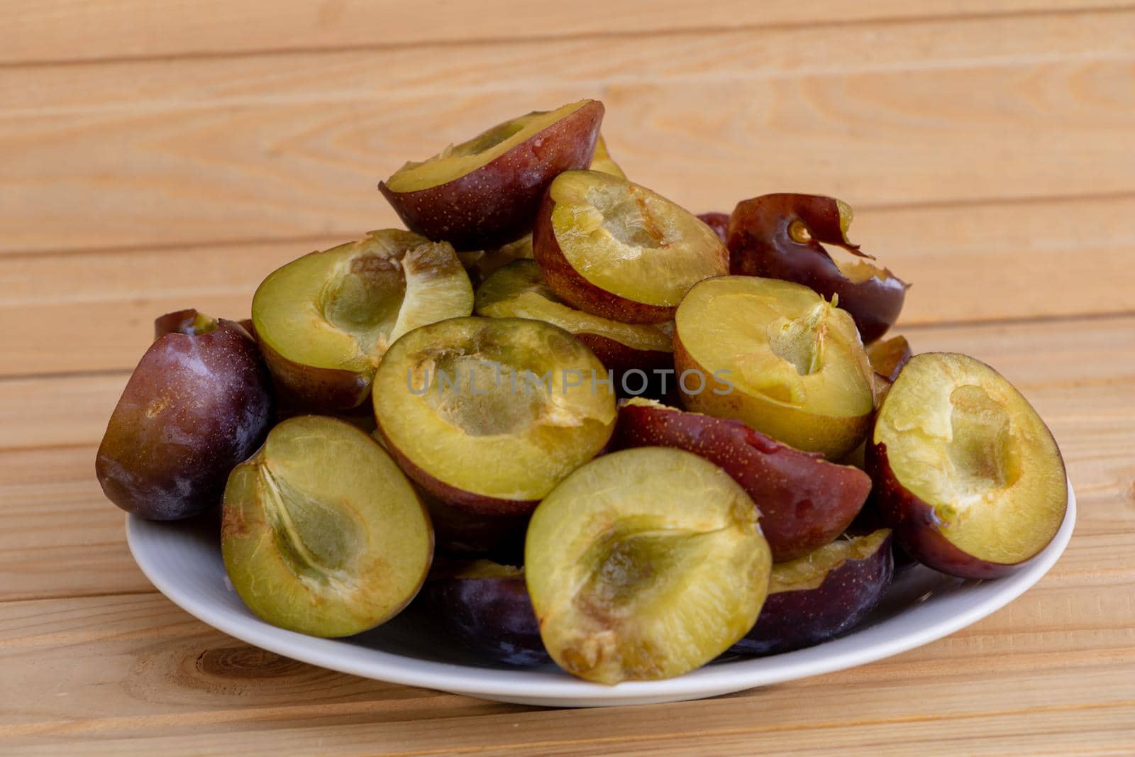
<path fill-rule="evenodd" d="M 839 460 L 863 440 L 874 371 L 851 317 L 810 288 L 753 276 L 696 285 L 674 321 L 683 404 Z"/>

